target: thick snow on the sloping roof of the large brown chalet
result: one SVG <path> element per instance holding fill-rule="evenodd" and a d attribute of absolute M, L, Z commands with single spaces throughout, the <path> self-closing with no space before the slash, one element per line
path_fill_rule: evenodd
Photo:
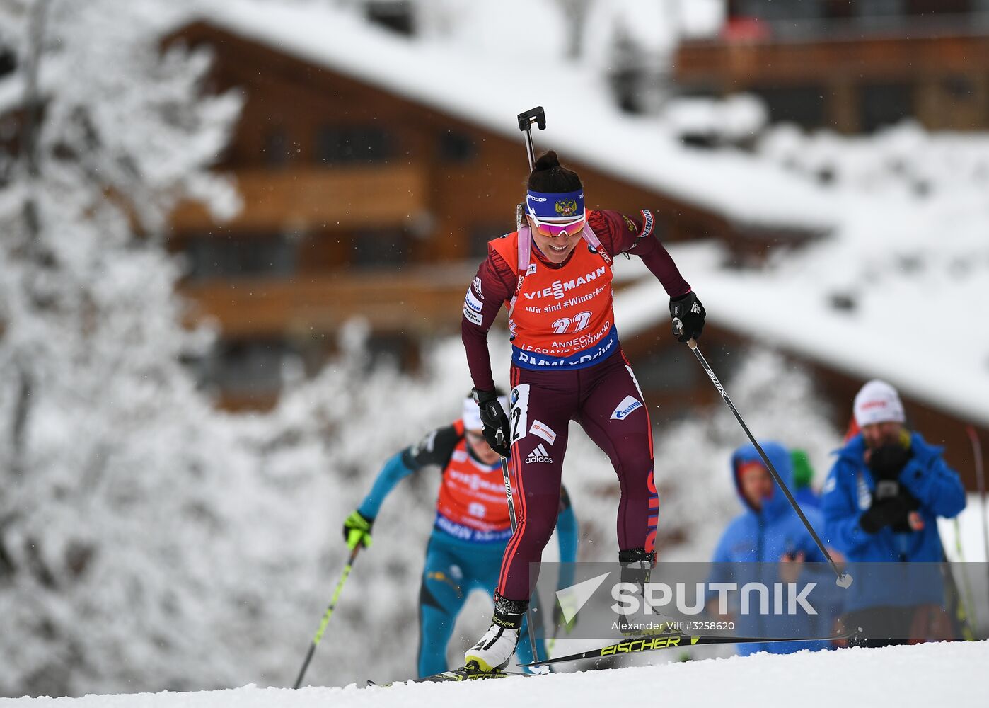
<path fill-rule="evenodd" d="M 604 79 L 581 64 L 468 54 L 315 4 L 229 0 L 201 8 L 199 17 L 519 143 L 516 114 L 541 105 L 548 126 L 535 132 L 537 150 L 553 148 L 740 224 L 813 231 L 834 224 L 828 200 L 779 166 L 743 152 L 686 148 L 663 122 L 620 112 Z"/>

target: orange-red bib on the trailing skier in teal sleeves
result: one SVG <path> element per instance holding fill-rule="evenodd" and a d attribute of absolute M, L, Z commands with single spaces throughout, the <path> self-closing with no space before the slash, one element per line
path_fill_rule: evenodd
<path fill-rule="evenodd" d="M 498 464 L 481 464 L 461 440 L 443 470 L 436 502 L 436 528 L 473 543 L 504 542 L 511 522 L 504 497 L 504 477 Z"/>

